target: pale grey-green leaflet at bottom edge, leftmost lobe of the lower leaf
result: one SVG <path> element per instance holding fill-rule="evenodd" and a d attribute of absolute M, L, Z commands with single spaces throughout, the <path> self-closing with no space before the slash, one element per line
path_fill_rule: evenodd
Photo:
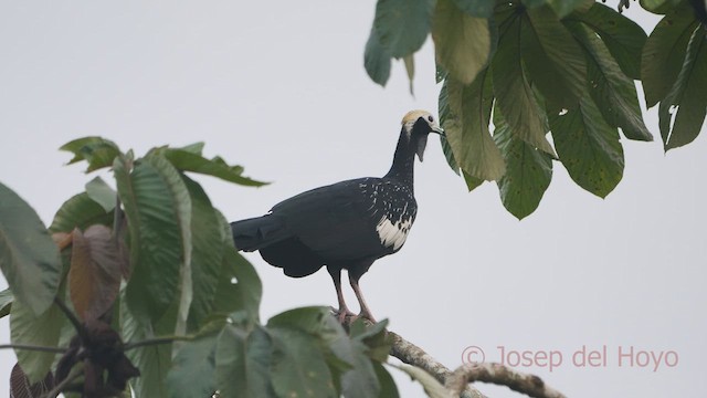
<path fill-rule="evenodd" d="M 167 374 L 169 397 L 205 398 L 215 392 L 218 336 L 212 333 L 181 346 Z"/>

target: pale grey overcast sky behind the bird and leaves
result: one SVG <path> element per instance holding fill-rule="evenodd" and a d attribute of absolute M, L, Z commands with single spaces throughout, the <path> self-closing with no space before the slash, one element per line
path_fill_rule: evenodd
<path fill-rule="evenodd" d="M 362 54 L 373 10 L 372 0 L 0 2 L 0 181 L 49 224 L 93 178 L 64 167 L 70 155 L 57 151 L 86 135 L 137 154 L 205 142 L 208 155 L 273 181 L 253 189 L 201 178 L 231 220 L 309 188 L 381 176 L 401 117 L 436 113 L 439 86 L 430 41 L 415 56 L 414 97 L 399 62 L 384 90 L 368 78 Z M 632 2 L 627 15 L 644 13 Z M 646 122 L 658 138 L 654 112 Z M 452 368 L 467 346 L 494 362 L 499 346 L 559 352 L 552 371 L 517 369 L 573 398 L 704 395 L 707 138 L 667 155 L 659 139 L 623 143 L 624 177 L 605 200 L 556 163 L 540 208 L 519 222 L 495 184 L 468 193 L 431 137 L 416 165 L 419 212 L 408 242 L 361 280 L 373 314 Z M 336 304 L 325 271 L 295 280 L 256 253 L 247 258 L 263 279 L 264 320 Z M 348 290 L 347 297 L 356 303 Z M 6 317 L 0 342 L 9 339 Z M 606 364 L 574 366 L 582 346 L 606 346 Z M 655 369 L 624 356 L 619 366 L 619 349 L 631 347 L 637 360 L 639 352 L 674 352 L 677 360 L 663 356 Z M 0 391 L 14 360 L 0 353 Z M 403 397 L 422 396 L 398 380 Z"/>

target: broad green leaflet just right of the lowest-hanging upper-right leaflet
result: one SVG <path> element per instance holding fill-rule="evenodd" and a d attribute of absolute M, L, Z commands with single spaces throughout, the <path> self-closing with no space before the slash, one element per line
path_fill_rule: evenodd
<path fill-rule="evenodd" d="M 550 116 L 555 147 L 570 177 L 580 187 L 604 198 L 623 176 L 619 132 L 609 126 L 591 97 L 578 109 Z"/>

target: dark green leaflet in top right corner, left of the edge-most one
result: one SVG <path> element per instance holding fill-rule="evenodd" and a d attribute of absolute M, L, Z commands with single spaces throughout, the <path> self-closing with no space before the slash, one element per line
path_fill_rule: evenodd
<path fill-rule="evenodd" d="M 647 107 L 653 107 L 671 92 L 683 69 L 687 43 L 698 25 L 692 7 L 685 1 L 651 32 L 641 60 L 641 83 Z"/>

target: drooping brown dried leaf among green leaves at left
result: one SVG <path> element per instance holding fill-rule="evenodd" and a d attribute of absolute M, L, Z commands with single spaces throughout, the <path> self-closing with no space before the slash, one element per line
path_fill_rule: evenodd
<path fill-rule="evenodd" d="M 94 321 L 110 308 L 120 286 L 120 256 L 110 229 L 91 226 L 75 229 L 68 289 L 76 314 Z"/>

